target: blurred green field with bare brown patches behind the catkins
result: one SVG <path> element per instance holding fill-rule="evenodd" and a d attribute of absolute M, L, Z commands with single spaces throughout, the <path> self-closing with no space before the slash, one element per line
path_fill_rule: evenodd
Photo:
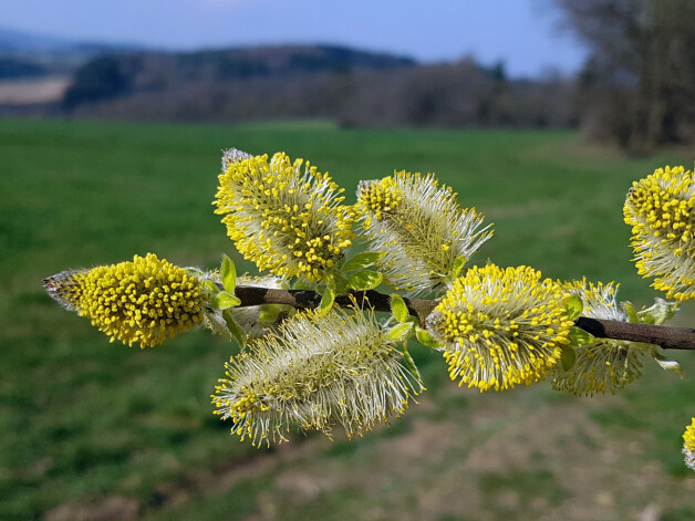
<path fill-rule="evenodd" d="M 210 206 L 229 146 L 308 158 L 349 195 L 434 171 L 495 223 L 475 261 L 620 281 L 637 304 L 654 293 L 630 262 L 624 195 L 693 160 L 629 159 L 569 132 L 0 121 L 0 519 L 695 519 L 687 353 L 683 381 L 647 363 L 621 395 L 589 399 L 459 389 L 414 347 L 429 390 L 391 429 L 257 450 L 211 414 L 229 343 L 110 344 L 45 295 L 46 275 L 148 251 L 206 268 L 227 252 L 250 270 Z M 680 320 L 695 325 L 693 308 Z"/>

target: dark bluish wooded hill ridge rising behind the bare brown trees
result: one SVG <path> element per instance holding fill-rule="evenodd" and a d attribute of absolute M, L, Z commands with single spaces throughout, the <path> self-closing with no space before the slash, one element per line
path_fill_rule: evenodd
<path fill-rule="evenodd" d="M 187 53 L 101 55 L 75 72 L 64 105 L 74 108 L 126 95 L 180 91 L 200 84 L 387 71 L 415 65 L 415 61 L 409 58 L 336 45 L 274 45 Z"/>

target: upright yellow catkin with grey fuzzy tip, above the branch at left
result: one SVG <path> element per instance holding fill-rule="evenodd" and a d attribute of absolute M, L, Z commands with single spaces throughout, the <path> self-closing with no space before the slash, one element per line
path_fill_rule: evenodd
<path fill-rule="evenodd" d="M 227 235 L 261 271 L 321 280 L 354 239 L 343 190 L 303 159 L 245 157 L 226 161 L 219 176 L 214 204 Z"/>

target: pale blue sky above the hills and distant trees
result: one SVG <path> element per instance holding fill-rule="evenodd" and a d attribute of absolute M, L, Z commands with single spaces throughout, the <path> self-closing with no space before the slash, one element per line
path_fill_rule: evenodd
<path fill-rule="evenodd" d="M 6 29 L 190 50 L 338 43 L 421 61 L 504 60 L 514 76 L 575 71 L 585 50 L 550 0 L 1 0 Z"/>

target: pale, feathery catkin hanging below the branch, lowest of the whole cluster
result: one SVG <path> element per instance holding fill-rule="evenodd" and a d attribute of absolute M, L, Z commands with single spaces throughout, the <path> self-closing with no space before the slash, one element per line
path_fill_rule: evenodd
<path fill-rule="evenodd" d="M 216 414 L 253 445 L 283 441 L 292 427 L 361 436 L 422 390 L 398 347 L 369 312 L 299 313 L 226 364 Z"/>

